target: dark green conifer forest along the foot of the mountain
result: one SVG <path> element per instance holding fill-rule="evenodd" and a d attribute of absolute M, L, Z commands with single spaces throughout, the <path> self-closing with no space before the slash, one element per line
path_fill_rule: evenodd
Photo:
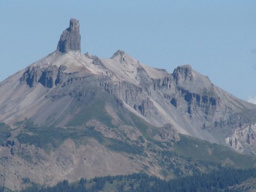
<path fill-rule="evenodd" d="M 145 173 L 132 175 L 116 175 L 95 177 L 94 179 L 81 178 L 69 183 L 68 180 L 58 182 L 56 186 L 37 186 L 33 184 L 22 192 L 81 192 L 81 191 L 246 191 L 254 186 L 236 188 L 248 179 L 256 178 L 256 169 L 236 170 L 220 168 L 211 173 L 199 173 L 189 177 L 180 177 L 172 180 L 162 180 Z"/>

